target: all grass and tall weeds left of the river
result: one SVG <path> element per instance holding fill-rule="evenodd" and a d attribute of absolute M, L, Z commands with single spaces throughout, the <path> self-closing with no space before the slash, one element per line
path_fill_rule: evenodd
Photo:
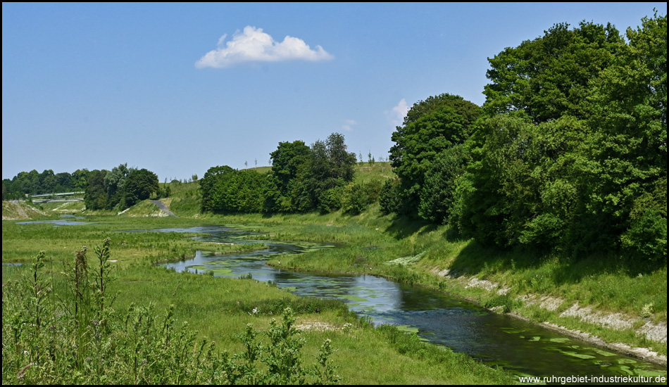
<path fill-rule="evenodd" d="M 191 189 L 196 187 L 196 184 L 184 185 Z M 293 223 L 299 222 L 302 215 L 286 216 L 291 216 L 293 220 L 288 223 Z M 263 218 L 258 215 L 258 219 Z M 229 224 L 231 220 L 234 219 L 222 220 L 220 215 L 211 215 L 206 222 L 218 224 L 225 221 Z M 126 215 L 98 217 L 85 226 L 70 227 L 4 221 L 4 262 L 25 262 L 22 266 L 3 269 L 3 305 L 8 308 L 3 310 L 4 337 L 14 325 L 22 329 L 18 341 L 4 340 L 4 383 L 250 383 L 251 377 L 256 378 L 256 383 L 280 383 L 279 379 L 263 379 L 265 376 L 273 377 L 274 373 L 270 375 L 268 372 L 271 367 L 279 367 L 272 359 L 283 357 L 281 353 L 293 353 L 290 348 L 302 345 L 302 339 L 304 345 L 299 351 L 300 362 L 292 364 L 297 364 L 294 369 L 301 370 L 293 374 L 304 375 L 305 383 L 335 381 L 337 375 L 344 383 L 365 384 L 513 382 L 500 370 L 490 369 L 449 350 L 431 349 L 429 344 L 418 341 L 415 336 L 406 336 L 390 327 L 382 331 L 373 329 L 340 302 L 298 298 L 271 284 L 249 279 L 177 274 L 153 265 L 153 262 L 161 260 L 192 256 L 194 249 L 214 249 L 225 253 L 228 248 L 237 250 L 246 246 L 244 244 L 227 246 L 199 242 L 190 239 L 194 234 L 127 231 L 187 227 L 201 222 L 187 217 Z M 103 265 L 99 265 L 98 253 L 95 260 L 87 262 L 89 277 L 86 285 L 84 276 L 77 276 L 75 263 L 68 262 L 72 262 L 73 258 L 81 262 L 81 252 L 86 253 L 76 246 L 95 246 L 106 235 L 111 236 L 108 241 L 110 254 L 102 255 L 106 257 Z M 98 251 L 106 251 L 106 243 L 103 242 Z M 40 259 L 43 265 L 37 269 L 38 282 L 44 281 L 48 287 L 45 292 L 38 291 L 40 295 L 45 295 L 39 300 L 42 336 L 35 335 L 36 325 L 30 322 L 35 313 L 26 311 L 31 305 L 36 305 L 31 301 L 35 298 L 26 290 L 29 287 L 25 286 L 26 278 L 35 278 L 29 264 L 30 256 L 35 253 L 28 253 L 35 246 L 42 246 L 46 251 L 44 258 Z M 73 254 L 75 249 L 80 253 Z M 79 267 L 82 268 L 81 265 Z M 92 277 L 91 271 L 94 269 L 99 273 L 100 267 L 105 267 L 101 277 L 108 273 L 106 278 L 113 279 L 105 287 L 108 331 L 94 331 L 97 326 L 88 324 L 84 331 L 90 333 L 83 334 L 75 331 L 77 324 L 70 318 L 70 313 L 76 314 L 73 311 L 78 301 L 75 300 L 82 299 L 82 303 L 77 305 L 88 302 L 87 310 L 90 312 L 87 313 L 92 320 L 98 320 L 99 304 L 95 295 L 99 292 L 96 293 L 92 284 L 99 276 Z M 80 274 L 84 272 L 82 269 L 79 271 Z M 78 287 L 77 278 L 80 279 Z M 86 289 L 89 289 L 88 296 L 84 292 Z M 78 296 L 80 294 L 82 296 Z M 285 320 L 280 319 L 273 325 L 272 319 L 280 317 L 287 307 L 296 318 L 294 324 L 289 324 L 292 328 L 308 326 L 309 322 L 319 322 L 330 328 L 324 331 L 305 329 L 301 333 L 293 330 L 292 336 L 285 336 L 281 334 L 288 326 L 282 322 Z M 15 320 L 8 316 L 15 316 Z M 249 329 L 249 323 L 254 325 L 253 329 Z M 96 332 L 99 336 L 94 336 Z M 253 341 L 251 336 L 254 336 Z M 284 347 L 282 344 L 270 345 L 276 343 L 277 336 L 295 341 L 287 342 Z M 327 339 L 330 339 L 332 354 L 327 357 L 329 360 L 324 361 L 329 351 L 327 344 L 323 345 Z M 82 361 L 79 363 L 74 362 L 77 355 L 73 345 L 75 340 L 80 340 L 77 348 L 82 348 Z M 210 347 L 212 341 L 215 345 Z M 105 346 L 110 342 L 115 344 Z M 20 345 L 18 353 L 15 343 Z M 49 347 L 43 351 L 34 350 L 42 348 L 41 345 Z M 178 345 L 188 350 L 175 350 Z M 30 348 L 25 349 L 26 346 Z M 272 352 L 273 348 L 275 352 Z M 251 367 L 246 361 L 247 354 L 256 350 L 256 362 Z M 415 354 L 413 350 L 416 350 Z M 229 355 L 225 355 L 226 351 Z M 175 357 L 177 354 L 183 357 Z M 55 360 L 50 355 L 54 355 Z M 31 363 L 32 366 L 23 369 Z M 75 372 L 75 364 L 81 364 L 83 368 Z M 361 367 L 361 364 L 368 365 Z M 449 367 L 443 364 L 449 364 Z M 166 367 L 174 371 L 163 373 L 161 370 L 170 369 Z M 196 373 L 196 369 L 201 372 Z M 223 371 L 230 379 L 225 379 L 227 376 Z M 291 379 L 292 383 L 298 381 Z"/>

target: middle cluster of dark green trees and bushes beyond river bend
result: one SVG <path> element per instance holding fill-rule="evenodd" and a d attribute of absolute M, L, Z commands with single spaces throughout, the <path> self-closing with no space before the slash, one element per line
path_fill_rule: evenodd
<path fill-rule="evenodd" d="M 272 170 L 211 167 L 199 180 L 201 210 L 211 212 L 287 213 L 344 210 L 358 214 L 376 201 L 380 181 L 354 183 L 356 154 L 344 136 L 330 134 L 307 146 L 304 141 L 280 142 L 270 153 Z"/>

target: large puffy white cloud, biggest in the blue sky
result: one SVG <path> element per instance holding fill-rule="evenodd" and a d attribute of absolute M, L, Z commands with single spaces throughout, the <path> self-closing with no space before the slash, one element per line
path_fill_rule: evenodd
<path fill-rule="evenodd" d="M 263 32 L 262 28 L 246 26 L 225 42 L 227 34 L 218 39 L 218 48 L 206 53 L 195 63 L 196 68 L 227 68 L 244 62 L 329 61 L 334 56 L 321 46 L 311 49 L 302 39 L 286 36 L 283 42 Z"/>

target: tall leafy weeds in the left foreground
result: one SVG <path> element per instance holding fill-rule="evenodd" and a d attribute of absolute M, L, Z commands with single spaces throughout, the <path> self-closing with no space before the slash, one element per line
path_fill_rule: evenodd
<path fill-rule="evenodd" d="M 215 352 L 215 345 L 186 322 L 175 327 L 175 306 L 165 315 L 131 303 L 125 313 L 111 307 L 110 241 L 94 248 L 89 267 L 86 248 L 77 250 L 65 270 L 68 291 L 52 294 L 54 273 L 45 272 L 46 254 L 37 254 L 28 275 L 3 285 L 3 384 L 330 384 L 340 377 L 325 341 L 317 362 L 302 365 L 304 339 L 296 337 L 290 307 L 263 334 L 249 324 L 240 335 L 246 352 Z M 62 284 L 61 284 L 62 287 Z"/>

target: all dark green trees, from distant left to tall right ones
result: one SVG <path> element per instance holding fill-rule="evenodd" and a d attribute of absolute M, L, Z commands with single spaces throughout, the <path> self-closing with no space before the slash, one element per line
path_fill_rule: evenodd
<path fill-rule="evenodd" d="M 392 134 L 397 179 L 355 183 L 356 154 L 333 133 L 280 142 L 268 174 L 209 168 L 201 210 L 355 215 L 378 201 L 384 214 L 499 248 L 666 260 L 667 19 L 641 22 L 625 35 L 610 23 L 556 24 L 488 58 L 483 106 L 452 94 L 418 101 Z M 153 172 L 119 165 L 21 172 L 3 180 L 3 199 L 81 189 L 92 209 L 169 194 Z"/>

